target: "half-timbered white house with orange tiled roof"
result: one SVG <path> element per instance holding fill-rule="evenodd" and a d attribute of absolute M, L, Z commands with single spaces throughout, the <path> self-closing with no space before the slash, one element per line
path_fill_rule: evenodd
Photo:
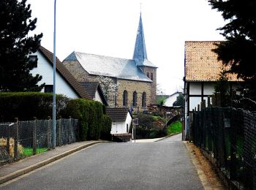
<path fill-rule="evenodd" d="M 223 69 L 222 61 L 218 61 L 217 53 L 212 50 L 219 41 L 188 41 L 185 42 L 184 62 L 184 139 L 189 131 L 189 113 L 195 110 L 197 104 L 214 94 L 214 86 L 219 80 Z M 224 68 L 228 69 L 228 68 Z M 235 74 L 228 74 L 230 91 L 238 88 L 242 80 Z M 196 108 L 197 109 L 197 108 Z"/>

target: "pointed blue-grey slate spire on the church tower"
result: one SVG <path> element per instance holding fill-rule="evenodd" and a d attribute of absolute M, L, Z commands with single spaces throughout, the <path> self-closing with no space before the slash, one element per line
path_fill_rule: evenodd
<path fill-rule="evenodd" d="M 139 22 L 139 27 L 138 27 L 137 37 L 135 42 L 135 51 L 133 53 L 133 59 L 136 61 L 138 65 L 143 64 L 143 61 L 147 59 L 141 12 L 140 12 L 140 22 Z"/>

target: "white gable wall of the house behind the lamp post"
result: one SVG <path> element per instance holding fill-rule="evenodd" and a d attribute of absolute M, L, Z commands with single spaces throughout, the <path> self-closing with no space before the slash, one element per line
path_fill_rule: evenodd
<path fill-rule="evenodd" d="M 53 66 L 42 56 L 38 51 L 32 55 L 37 55 L 37 68 L 31 70 L 32 75 L 42 75 L 42 80 L 39 81 L 38 85 L 45 83 L 45 85 L 53 85 Z M 42 92 L 45 89 L 42 88 Z M 56 72 L 56 94 L 64 94 L 69 98 L 78 98 L 78 94 L 66 83 L 66 81 Z"/>

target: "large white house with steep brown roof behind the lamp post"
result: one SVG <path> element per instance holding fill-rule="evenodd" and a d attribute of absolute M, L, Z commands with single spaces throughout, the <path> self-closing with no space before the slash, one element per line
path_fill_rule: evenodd
<path fill-rule="evenodd" d="M 37 66 L 31 70 L 31 74 L 42 75 L 42 80 L 38 83 L 38 85 L 45 83 L 42 92 L 53 92 L 53 53 L 40 46 L 29 58 L 37 58 Z M 56 58 L 56 94 L 64 94 L 69 98 L 91 99 L 59 58 Z"/>

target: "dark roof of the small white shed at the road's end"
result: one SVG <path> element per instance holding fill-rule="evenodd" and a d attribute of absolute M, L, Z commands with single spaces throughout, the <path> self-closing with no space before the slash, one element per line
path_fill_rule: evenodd
<path fill-rule="evenodd" d="M 106 107 L 106 113 L 110 116 L 112 121 L 119 121 L 119 122 L 125 121 L 127 119 L 127 113 L 131 115 L 128 108 L 116 108 L 116 107 Z"/>

